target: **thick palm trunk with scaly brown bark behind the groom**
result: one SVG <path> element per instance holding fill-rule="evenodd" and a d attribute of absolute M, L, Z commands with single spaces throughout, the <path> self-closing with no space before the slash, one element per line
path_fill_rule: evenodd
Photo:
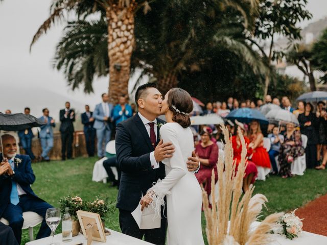
<path fill-rule="evenodd" d="M 128 7 L 111 5 L 106 10 L 108 22 L 109 100 L 118 103 L 121 94 L 128 94 L 128 81 L 134 39 L 135 0 Z"/>

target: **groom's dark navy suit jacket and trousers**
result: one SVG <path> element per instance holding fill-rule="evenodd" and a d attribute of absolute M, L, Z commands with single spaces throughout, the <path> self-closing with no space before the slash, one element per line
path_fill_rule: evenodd
<path fill-rule="evenodd" d="M 157 118 L 157 123 L 164 121 Z M 158 128 L 158 127 L 157 127 Z M 157 143 L 159 128 L 157 129 Z M 161 214 L 161 227 L 158 229 L 140 230 L 131 212 L 141 201 L 142 194 L 152 187 L 153 182 L 165 178 L 165 165 L 153 169 L 150 153 L 154 151 L 148 132 L 141 118 L 136 114 L 120 122 L 116 128 L 116 156 L 122 170 L 121 183 L 118 192 L 119 222 L 124 234 L 145 240 L 154 244 L 165 244 L 167 219 Z"/>

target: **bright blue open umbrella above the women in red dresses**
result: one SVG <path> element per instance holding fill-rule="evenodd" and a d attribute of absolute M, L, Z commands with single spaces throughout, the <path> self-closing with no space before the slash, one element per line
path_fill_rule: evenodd
<path fill-rule="evenodd" d="M 250 108 L 233 110 L 226 116 L 226 118 L 233 120 L 237 119 L 238 121 L 244 122 L 245 124 L 249 124 L 252 120 L 257 120 L 261 124 L 269 123 L 264 114 L 258 110 L 253 110 Z"/>

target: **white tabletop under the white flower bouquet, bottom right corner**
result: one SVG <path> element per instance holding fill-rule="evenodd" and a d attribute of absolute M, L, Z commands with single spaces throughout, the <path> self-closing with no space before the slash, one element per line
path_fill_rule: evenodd
<path fill-rule="evenodd" d="M 251 227 L 260 225 L 260 222 L 254 222 Z M 272 241 L 269 245 L 325 245 L 327 244 L 327 236 L 321 236 L 307 231 L 302 231 L 299 237 L 293 240 L 286 239 L 278 234 L 271 235 Z"/>

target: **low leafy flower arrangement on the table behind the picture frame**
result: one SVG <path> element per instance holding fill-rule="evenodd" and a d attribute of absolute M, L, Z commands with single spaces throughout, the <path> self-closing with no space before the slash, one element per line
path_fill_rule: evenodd
<path fill-rule="evenodd" d="M 92 213 L 99 213 L 100 217 L 104 219 L 108 214 L 114 213 L 115 205 L 114 202 L 105 200 L 100 197 L 96 197 L 94 201 L 83 201 L 77 195 L 68 195 L 59 199 L 60 211 L 65 212 L 65 207 L 69 208 L 69 214 L 71 214 L 73 220 L 78 220 L 76 211 L 83 210 Z"/>

